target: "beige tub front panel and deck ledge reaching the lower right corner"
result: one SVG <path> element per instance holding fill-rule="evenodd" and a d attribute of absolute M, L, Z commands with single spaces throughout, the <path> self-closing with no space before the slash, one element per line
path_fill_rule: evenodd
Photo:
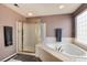
<path fill-rule="evenodd" d="M 55 50 L 50 48 L 48 46 L 44 44 L 36 45 L 35 55 L 36 57 L 40 57 L 44 62 L 86 62 L 87 61 L 87 56 L 86 58 L 85 56 L 84 57 L 73 56 L 73 55 L 69 56 L 68 54 L 64 54 L 58 51 L 56 52 Z"/>

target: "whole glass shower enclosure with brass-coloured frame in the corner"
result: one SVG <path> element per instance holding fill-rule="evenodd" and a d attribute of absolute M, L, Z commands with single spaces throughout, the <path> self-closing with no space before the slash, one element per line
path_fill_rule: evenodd
<path fill-rule="evenodd" d="M 45 23 L 18 22 L 18 52 L 35 52 L 35 45 L 45 39 Z"/>

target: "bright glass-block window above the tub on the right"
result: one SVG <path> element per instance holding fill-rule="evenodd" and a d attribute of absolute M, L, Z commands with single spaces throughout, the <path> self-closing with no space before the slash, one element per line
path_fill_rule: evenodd
<path fill-rule="evenodd" d="M 87 44 L 87 11 L 76 17 L 76 40 Z"/>

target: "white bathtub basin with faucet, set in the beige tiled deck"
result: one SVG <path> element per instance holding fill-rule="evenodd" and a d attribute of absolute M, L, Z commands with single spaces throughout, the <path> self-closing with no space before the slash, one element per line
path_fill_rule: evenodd
<path fill-rule="evenodd" d="M 87 62 L 87 52 L 75 44 L 46 43 L 45 46 L 53 50 L 54 52 L 57 52 L 63 54 L 64 56 L 67 56 L 72 62 Z"/>

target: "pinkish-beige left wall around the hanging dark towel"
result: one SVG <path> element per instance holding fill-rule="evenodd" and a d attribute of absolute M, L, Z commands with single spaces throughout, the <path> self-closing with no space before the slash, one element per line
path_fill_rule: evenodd
<path fill-rule="evenodd" d="M 17 52 L 17 21 L 24 20 L 24 17 L 19 15 L 11 9 L 0 4 L 0 61 Z M 13 28 L 13 45 L 4 46 L 3 26 Z"/>

